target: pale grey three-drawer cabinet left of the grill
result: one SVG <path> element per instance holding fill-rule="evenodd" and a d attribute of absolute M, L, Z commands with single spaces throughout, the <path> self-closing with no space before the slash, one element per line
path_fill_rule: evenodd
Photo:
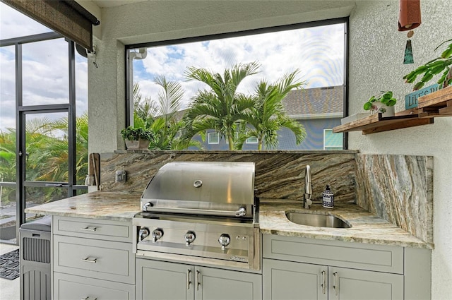
<path fill-rule="evenodd" d="M 131 222 L 58 217 L 52 299 L 135 299 Z"/>

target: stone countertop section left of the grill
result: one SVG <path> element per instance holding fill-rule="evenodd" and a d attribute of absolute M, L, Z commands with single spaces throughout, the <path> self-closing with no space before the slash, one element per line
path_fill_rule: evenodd
<path fill-rule="evenodd" d="M 131 222 L 141 211 L 141 193 L 93 192 L 26 208 L 27 213 Z"/>

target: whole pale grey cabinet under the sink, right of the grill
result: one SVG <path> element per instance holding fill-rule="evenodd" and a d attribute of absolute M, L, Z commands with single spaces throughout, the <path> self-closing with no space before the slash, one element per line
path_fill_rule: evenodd
<path fill-rule="evenodd" d="M 429 299 L 430 256 L 420 248 L 264 234 L 263 299 Z"/>

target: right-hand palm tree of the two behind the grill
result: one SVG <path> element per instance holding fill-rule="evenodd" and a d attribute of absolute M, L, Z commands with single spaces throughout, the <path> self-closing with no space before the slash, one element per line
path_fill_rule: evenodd
<path fill-rule="evenodd" d="M 303 81 L 297 81 L 298 71 L 286 74 L 275 84 L 270 85 L 261 80 L 256 88 L 254 107 L 246 111 L 242 116 L 242 131 L 237 139 L 237 149 L 242 146 L 247 138 L 256 137 L 258 150 L 262 150 L 263 144 L 267 149 L 278 145 L 278 130 L 280 127 L 289 128 L 295 134 L 297 145 L 304 140 L 306 131 L 302 124 L 290 119 L 284 111 L 282 100 L 287 94 L 304 85 Z M 249 126 L 251 125 L 251 126 Z"/>

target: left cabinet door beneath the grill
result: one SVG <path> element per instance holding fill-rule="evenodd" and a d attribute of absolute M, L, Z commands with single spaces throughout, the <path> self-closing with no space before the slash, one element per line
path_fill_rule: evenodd
<path fill-rule="evenodd" d="M 194 299 L 194 267 L 136 259 L 136 299 Z"/>

